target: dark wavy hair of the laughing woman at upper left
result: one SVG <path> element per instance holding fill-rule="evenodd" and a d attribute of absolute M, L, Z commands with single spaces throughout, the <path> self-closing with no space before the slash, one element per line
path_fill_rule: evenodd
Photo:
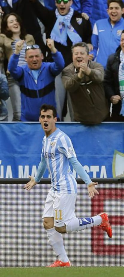
<path fill-rule="evenodd" d="M 8 30 L 8 26 L 7 26 L 7 19 L 8 19 L 8 17 L 10 17 L 10 15 L 14 15 L 20 25 L 20 39 L 25 39 L 25 36 L 27 35 L 27 33 L 25 31 L 25 28 L 23 27 L 22 19 L 18 14 L 14 13 L 14 12 L 11 12 L 10 14 L 6 14 L 3 17 L 2 22 L 1 22 L 1 33 L 6 35 L 8 38 L 12 38 L 13 33 L 11 30 Z"/>

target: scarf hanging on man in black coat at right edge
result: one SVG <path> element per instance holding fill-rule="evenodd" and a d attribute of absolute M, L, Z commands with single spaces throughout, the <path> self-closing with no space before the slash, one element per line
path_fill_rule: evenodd
<path fill-rule="evenodd" d="M 121 111 L 120 115 L 124 116 L 124 53 L 121 50 L 120 52 L 120 66 L 118 72 L 118 79 L 119 79 L 119 88 L 120 88 L 120 96 L 121 96 Z"/>

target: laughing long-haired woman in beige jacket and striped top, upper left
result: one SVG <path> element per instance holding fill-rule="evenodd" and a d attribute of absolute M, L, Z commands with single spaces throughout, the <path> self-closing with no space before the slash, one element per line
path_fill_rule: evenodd
<path fill-rule="evenodd" d="M 0 46 L 4 49 L 5 57 L 9 61 L 10 56 L 15 51 L 15 44 L 17 41 L 24 40 L 23 49 L 20 52 L 18 65 L 25 65 L 25 49 L 27 45 L 35 43 L 32 35 L 26 34 L 22 26 L 21 18 L 15 14 L 10 13 L 5 15 L 1 23 Z M 7 70 L 7 80 L 9 86 L 10 100 L 13 108 L 12 121 L 19 121 L 21 116 L 21 92 L 18 81 L 13 79 Z"/>

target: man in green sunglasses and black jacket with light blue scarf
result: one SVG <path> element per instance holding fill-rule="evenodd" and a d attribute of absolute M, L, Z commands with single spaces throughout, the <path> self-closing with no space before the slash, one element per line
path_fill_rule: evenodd
<path fill-rule="evenodd" d="M 51 37 L 54 39 L 55 47 L 63 55 L 65 66 L 72 62 L 71 46 L 76 42 L 84 41 L 89 43 L 90 50 L 92 50 L 92 45 L 90 44 L 92 35 L 90 21 L 85 20 L 80 13 L 74 11 L 71 7 L 72 3 L 72 0 L 56 0 L 56 10 L 51 11 L 38 0 L 33 0 L 32 2 L 34 12 L 45 26 L 46 38 Z M 49 49 L 47 49 L 47 52 L 47 61 L 51 61 L 52 57 Z M 60 74 L 55 79 L 55 96 L 60 118 L 63 111 L 65 94 L 66 90 L 63 87 Z M 68 102 L 68 105 L 71 109 L 71 101 Z"/>

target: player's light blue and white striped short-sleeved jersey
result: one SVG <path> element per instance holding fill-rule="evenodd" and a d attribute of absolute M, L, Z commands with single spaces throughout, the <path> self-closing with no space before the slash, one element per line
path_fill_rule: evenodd
<path fill-rule="evenodd" d="M 41 158 L 45 158 L 52 190 L 57 193 L 77 193 L 77 182 L 69 168 L 69 158 L 76 157 L 70 138 L 60 129 L 44 136 Z"/>

